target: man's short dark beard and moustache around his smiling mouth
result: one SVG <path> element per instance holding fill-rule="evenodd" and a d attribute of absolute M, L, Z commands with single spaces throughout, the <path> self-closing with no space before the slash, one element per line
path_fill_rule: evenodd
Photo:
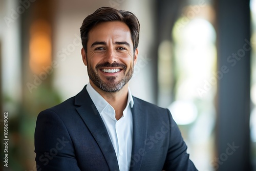
<path fill-rule="evenodd" d="M 99 68 L 104 68 L 104 67 L 121 67 L 122 70 L 124 71 L 124 76 L 120 81 L 116 81 L 117 76 L 108 76 L 106 77 L 107 82 L 104 82 L 102 79 L 100 79 L 98 70 Z M 130 70 L 126 71 L 127 67 L 121 63 L 112 63 L 110 64 L 109 62 L 101 63 L 96 65 L 95 70 L 92 68 L 92 66 L 87 67 L 88 75 L 89 78 L 93 81 L 93 83 L 100 88 L 101 90 L 105 92 L 118 92 L 120 91 L 123 86 L 130 81 L 130 79 L 133 76 L 133 71 L 134 71 L 134 65 L 131 67 Z"/>

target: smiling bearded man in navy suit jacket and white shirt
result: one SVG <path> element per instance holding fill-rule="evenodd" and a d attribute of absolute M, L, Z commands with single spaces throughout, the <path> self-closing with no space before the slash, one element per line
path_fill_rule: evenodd
<path fill-rule="evenodd" d="M 108 7 L 83 20 L 90 81 L 38 115 L 37 170 L 197 170 L 170 112 L 131 94 L 139 29 L 133 13 Z"/>

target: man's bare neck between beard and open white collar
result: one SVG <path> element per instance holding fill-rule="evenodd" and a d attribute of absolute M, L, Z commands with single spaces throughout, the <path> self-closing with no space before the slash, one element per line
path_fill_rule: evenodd
<path fill-rule="evenodd" d="M 115 110 L 116 119 L 119 120 L 123 116 L 123 110 L 127 104 L 128 98 L 128 83 L 118 92 L 105 92 L 98 88 L 91 80 L 90 84 L 93 89 L 98 92 Z"/>

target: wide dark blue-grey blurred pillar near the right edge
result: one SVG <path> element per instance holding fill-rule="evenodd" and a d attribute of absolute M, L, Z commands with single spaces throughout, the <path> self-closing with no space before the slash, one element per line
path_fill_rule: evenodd
<path fill-rule="evenodd" d="M 218 170 L 250 166 L 250 8 L 249 0 L 217 0 Z"/>

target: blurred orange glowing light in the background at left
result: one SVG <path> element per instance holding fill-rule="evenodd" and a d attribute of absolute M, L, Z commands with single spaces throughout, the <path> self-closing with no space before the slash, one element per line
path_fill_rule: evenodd
<path fill-rule="evenodd" d="M 33 73 L 40 74 L 43 68 L 51 65 L 51 30 L 48 23 L 38 21 L 30 29 L 29 65 Z"/>

